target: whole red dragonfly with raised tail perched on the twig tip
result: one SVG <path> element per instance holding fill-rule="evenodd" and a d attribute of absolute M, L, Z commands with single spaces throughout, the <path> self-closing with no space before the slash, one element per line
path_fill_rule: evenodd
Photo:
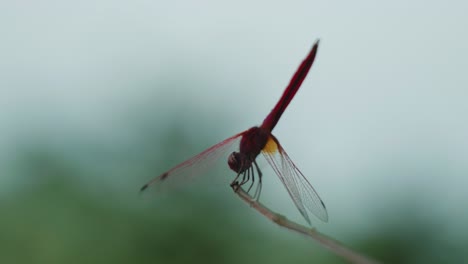
<path fill-rule="evenodd" d="M 322 199 L 320 199 L 319 195 L 302 172 L 294 165 L 278 139 L 271 133 L 307 76 L 314 62 L 315 55 L 317 54 L 318 44 L 319 41 L 314 44 L 307 57 L 302 61 L 280 100 L 265 118 L 261 126 L 254 126 L 240 132 L 180 163 L 143 185 L 141 191 L 147 189 L 151 185 L 162 183 L 168 178 L 177 178 L 182 175 L 193 174 L 197 168 L 206 166 L 208 162 L 219 157 L 230 146 L 240 140 L 239 151 L 232 152 L 228 158 L 229 167 L 237 173 L 236 178 L 231 183 L 231 187 L 233 187 L 234 190 L 241 188 L 241 186 L 250 181 L 251 184 L 247 191 L 249 192 L 255 181 L 255 173 L 257 173 L 259 181 L 254 197 L 257 197 L 257 199 L 259 198 L 262 185 L 262 172 L 257 165 L 256 158 L 262 153 L 286 187 L 286 190 L 304 219 L 310 224 L 308 212 L 311 212 L 322 221 L 327 222 L 328 213 Z M 240 177 L 242 177 L 242 180 L 239 181 Z"/>

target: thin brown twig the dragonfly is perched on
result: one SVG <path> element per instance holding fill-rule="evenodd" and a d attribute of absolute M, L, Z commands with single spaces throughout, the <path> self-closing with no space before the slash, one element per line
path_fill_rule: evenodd
<path fill-rule="evenodd" d="M 239 186 L 232 186 L 234 192 L 247 204 L 249 204 L 252 208 L 260 212 L 262 215 L 264 215 L 266 218 L 270 219 L 272 222 L 276 223 L 279 226 L 282 226 L 284 228 L 287 228 L 289 230 L 292 230 L 294 232 L 303 234 L 305 236 L 308 236 L 315 241 L 317 241 L 320 245 L 328 248 L 330 251 L 335 253 L 338 256 L 341 256 L 345 260 L 351 262 L 351 263 L 380 263 L 376 260 L 372 260 L 364 255 L 361 255 L 360 253 L 351 250 L 347 248 L 346 246 L 342 245 L 338 241 L 321 234 L 317 230 L 313 228 L 308 228 L 306 226 L 300 225 L 296 222 L 293 222 L 289 219 L 287 219 L 285 216 L 278 214 L 276 212 L 273 212 L 272 210 L 268 209 L 266 206 L 258 202 L 257 200 L 253 199 L 248 193 L 246 193 L 241 187 Z"/>

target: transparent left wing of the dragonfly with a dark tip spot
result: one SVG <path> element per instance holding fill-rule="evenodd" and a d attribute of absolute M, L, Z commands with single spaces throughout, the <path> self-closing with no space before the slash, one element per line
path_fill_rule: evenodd
<path fill-rule="evenodd" d="M 144 191 L 148 187 L 166 181 L 167 179 L 190 177 L 200 174 L 204 169 L 208 168 L 214 161 L 216 161 L 223 153 L 225 153 L 235 142 L 239 142 L 244 132 L 227 138 L 218 144 L 204 150 L 200 154 L 176 165 L 175 167 L 143 185 L 140 190 Z"/>

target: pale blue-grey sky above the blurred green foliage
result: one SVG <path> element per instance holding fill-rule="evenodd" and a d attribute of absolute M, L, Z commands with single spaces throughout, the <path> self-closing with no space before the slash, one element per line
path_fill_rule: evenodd
<path fill-rule="evenodd" d="M 419 210 L 456 235 L 468 220 L 467 10 L 466 1 L 2 1 L 0 163 L 34 140 L 132 144 L 129 119 L 142 113 L 155 127 L 185 115 L 192 140 L 209 129 L 196 126 L 200 115 L 213 127 L 219 119 L 206 118 L 225 116 L 228 137 L 263 120 L 320 39 L 274 131 L 327 204 L 320 227 L 353 232 Z M 16 185 L 2 174 L 1 189 Z"/>

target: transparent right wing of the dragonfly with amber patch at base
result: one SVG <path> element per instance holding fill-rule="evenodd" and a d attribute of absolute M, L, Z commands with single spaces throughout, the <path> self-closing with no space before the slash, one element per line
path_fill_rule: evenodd
<path fill-rule="evenodd" d="M 305 220 L 310 224 L 307 212 L 311 212 L 320 220 L 327 222 L 328 213 L 325 204 L 314 187 L 294 165 L 278 140 L 271 136 L 262 153 L 286 187 L 289 196 Z"/>

